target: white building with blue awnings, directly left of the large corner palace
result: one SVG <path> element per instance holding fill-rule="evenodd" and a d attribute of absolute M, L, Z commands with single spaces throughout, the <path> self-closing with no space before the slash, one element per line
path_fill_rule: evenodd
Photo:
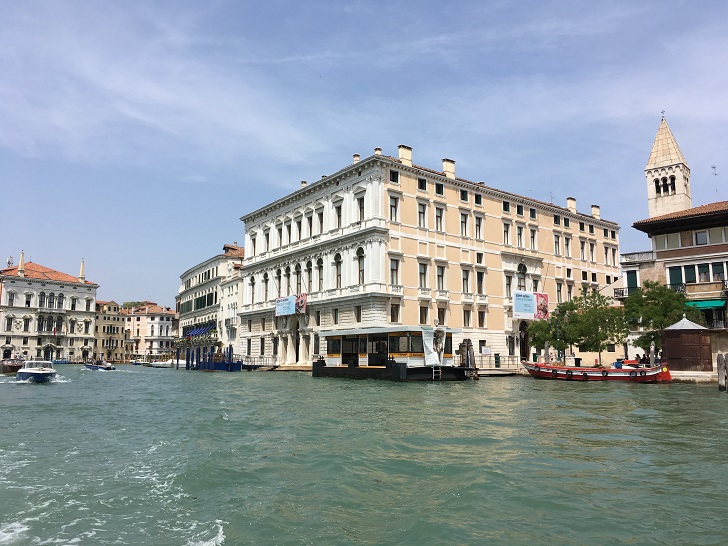
<path fill-rule="evenodd" d="M 239 270 L 244 249 L 225 244 L 222 254 L 208 258 L 181 276 L 176 305 L 179 313 L 179 339 L 175 346 L 184 358 L 188 348 L 200 356 L 232 347 L 239 353 L 237 309 L 240 297 Z"/>

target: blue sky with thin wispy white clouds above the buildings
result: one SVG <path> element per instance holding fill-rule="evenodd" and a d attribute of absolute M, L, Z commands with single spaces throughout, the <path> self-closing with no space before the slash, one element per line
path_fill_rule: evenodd
<path fill-rule="evenodd" d="M 0 0 L 2 266 L 174 307 L 240 217 L 381 147 L 649 249 L 665 117 L 693 206 L 728 200 L 723 1 Z M 713 168 L 715 167 L 715 168 Z"/>

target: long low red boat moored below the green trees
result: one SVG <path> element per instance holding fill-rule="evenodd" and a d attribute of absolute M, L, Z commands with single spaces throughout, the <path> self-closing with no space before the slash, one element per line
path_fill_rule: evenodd
<path fill-rule="evenodd" d="M 669 383 L 670 369 L 662 364 L 653 368 L 574 368 L 524 362 L 531 377 L 564 381 L 629 381 L 632 383 Z"/>

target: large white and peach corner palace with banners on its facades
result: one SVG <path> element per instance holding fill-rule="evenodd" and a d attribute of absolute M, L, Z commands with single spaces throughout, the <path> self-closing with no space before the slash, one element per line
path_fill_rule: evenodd
<path fill-rule="evenodd" d="M 577 211 L 374 154 L 245 214 L 244 356 L 310 364 L 321 332 L 438 324 L 477 353 L 531 358 L 518 294 L 548 308 L 619 277 L 619 226 Z M 276 300 L 296 298 L 297 312 Z M 517 305 L 516 305 L 517 307 Z M 533 315 L 531 316 L 533 318 Z"/>

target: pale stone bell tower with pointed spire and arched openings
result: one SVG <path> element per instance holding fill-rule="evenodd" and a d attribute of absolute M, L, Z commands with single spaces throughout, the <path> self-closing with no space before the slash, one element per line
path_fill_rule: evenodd
<path fill-rule="evenodd" d="M 690 167 L 665 121 L 664 111 L 645 167 L 645 178 L 650 218 L 693 207 Z"/>

